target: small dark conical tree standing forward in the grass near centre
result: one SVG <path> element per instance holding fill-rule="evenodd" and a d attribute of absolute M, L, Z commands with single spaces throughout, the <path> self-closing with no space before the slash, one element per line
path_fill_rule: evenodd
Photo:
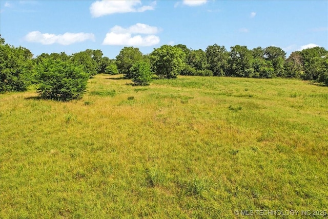
<path fill-rule="evenodd" d="M 148 86 L 151 81 L 152 72 L 150 64 L 145 61 L 139 61 L 132 65 L 132 82 L 137 86 Z"/>

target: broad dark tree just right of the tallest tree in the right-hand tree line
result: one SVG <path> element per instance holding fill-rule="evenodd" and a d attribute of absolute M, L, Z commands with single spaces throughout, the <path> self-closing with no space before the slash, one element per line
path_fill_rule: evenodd
<path fill-rule="evenodd" d="M 230 55 L 230 75 L 237 77 L 253 76 L 253 55 L 247 46 L 231 47 Z"/>

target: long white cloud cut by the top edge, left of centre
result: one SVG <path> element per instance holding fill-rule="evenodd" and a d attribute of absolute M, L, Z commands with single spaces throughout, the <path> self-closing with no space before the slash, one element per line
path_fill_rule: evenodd
<path fill-rule="evenodd" d="M 92 3 L 90 6 L 90 13 L 93 17 L 100 17 L 114 13 L 144 12 L 147 10 L 154 10 L 155 5 L 156 2 L 152 2 L 148 6 L 141 6 L 140 0 L 103 0 Z"/>

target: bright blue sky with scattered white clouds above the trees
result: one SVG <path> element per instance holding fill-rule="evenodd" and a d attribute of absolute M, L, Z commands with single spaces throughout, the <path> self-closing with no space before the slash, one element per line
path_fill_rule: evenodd
<path fill-rule="evenodd" d="M 328 1 L 0 1 L 6 43 L 72 54 L 124 46 L 150 53 L 161 45 L 206 50 L 217 44 L 277 46 L 287 54 L 328 48 Z"/>

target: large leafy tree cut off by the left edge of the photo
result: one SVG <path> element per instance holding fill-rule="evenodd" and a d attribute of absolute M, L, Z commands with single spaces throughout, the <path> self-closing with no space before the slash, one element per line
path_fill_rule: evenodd
<path fill-rule="evenodd" d="M 24 47 L 5 44 L 0 38 L 0 92 L 25 91 L 31 83 L 33 54 Z"/>

